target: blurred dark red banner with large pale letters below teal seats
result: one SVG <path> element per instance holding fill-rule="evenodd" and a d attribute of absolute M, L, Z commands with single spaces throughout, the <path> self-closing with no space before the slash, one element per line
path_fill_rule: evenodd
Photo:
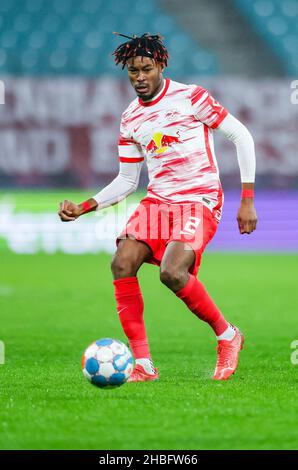
<path fill-rule="evenodd" d="M 101 187 L 113 179 L 121 114 L 135 97 L 128 81 L 7 77 L 3 82 L 1 187 Z M 247 125 L 260 185 L 297 185 L 298 104 L 291 100 L 289 80 L 192 77 L 186 82 L 208 88 Z M 238 186 L 233 144 L 216 132 L 215 142 L 222 179 L 228 187 Z"/>

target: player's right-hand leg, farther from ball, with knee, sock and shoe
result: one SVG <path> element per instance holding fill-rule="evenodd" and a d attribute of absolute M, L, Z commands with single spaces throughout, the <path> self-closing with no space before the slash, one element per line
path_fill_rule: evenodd
<path fill-rule="evenodd" d="M 187 248 L 187 249 L 186 249 Z M 161 268 L 161 281 L 179 297 L 187 307 L 214 330 L 217 340 L 215 380 L 225 380 L 238 365 L 239 352 L 243 348 L 242 333 L 224 318 L 204 285 L 189 270 L 196 260 L 195 253 L 181 241 L 172 241 L 165 251 Z"/>

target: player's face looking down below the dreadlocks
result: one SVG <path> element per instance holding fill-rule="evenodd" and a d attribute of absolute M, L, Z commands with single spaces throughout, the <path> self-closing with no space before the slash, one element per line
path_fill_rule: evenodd
<path fill-rule="evenodd" d="M 162 89 L 164 67 L 150 57 L 132 57 L 127 61 L 130 83 L 142 101 L 150 100 Z"/>

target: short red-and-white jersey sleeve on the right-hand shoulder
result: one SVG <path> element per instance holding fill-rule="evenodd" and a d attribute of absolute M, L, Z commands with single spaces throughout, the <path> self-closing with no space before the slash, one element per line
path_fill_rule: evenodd
<path fill-rule="evenodd" d="M 195 118 L 212 129 L 216 129 L 228 115 L 228 110 L 203 87 L 193 87 L 190 100 Z"/>

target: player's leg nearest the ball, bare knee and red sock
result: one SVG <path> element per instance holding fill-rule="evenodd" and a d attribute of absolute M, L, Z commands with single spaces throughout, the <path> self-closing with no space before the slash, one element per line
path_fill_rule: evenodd
<path fill-rule="evenodd" d="M 150 259 L 151 250 L 143 242 L 126 238 L 119 241 L 111 269 L 114 277 L 117 311 L 124 333 L 136 360 L 136 369 L 144 368 L 150 379 L 157 378 L 153 367 L 144 324 L 144 302 L 137 272 Z"/>

